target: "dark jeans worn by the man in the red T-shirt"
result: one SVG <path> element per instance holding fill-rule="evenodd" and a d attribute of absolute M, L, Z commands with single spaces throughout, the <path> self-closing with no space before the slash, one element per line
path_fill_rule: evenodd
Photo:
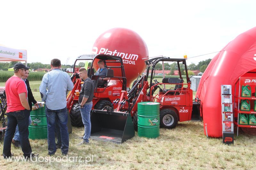
<path fill-rule="evenodd" d="M 7 113 L 7 129 L 4 137 L 4 149 L 3 156 L 4 158 L 8 158 L 11 156 L 11 144 L 12 137 L 15 133 L 16 126 L 18 124 L 19 132 L 20 132 L 20 145 L 21 150 L 23 152 L 24 157 L 30 157 L 30 153 L 32 152 L 31 146 L 28 140 L 28 117 L 30 116 L 30 110 L 19 110 L 15 112 Z"/>

